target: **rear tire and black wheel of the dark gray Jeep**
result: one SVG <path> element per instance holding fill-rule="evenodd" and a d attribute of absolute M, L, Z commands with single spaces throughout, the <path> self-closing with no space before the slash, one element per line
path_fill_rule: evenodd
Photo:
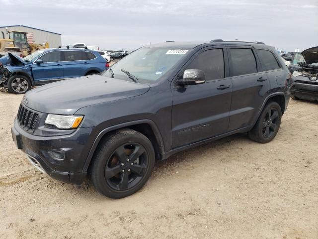
<path fill-rule="evenodd" d="M 254 127 L 248 132 L 250 139 L 268 143 L 277 134 L 282 120 L 282 110 L 277 102 L 266 104 Z"/>

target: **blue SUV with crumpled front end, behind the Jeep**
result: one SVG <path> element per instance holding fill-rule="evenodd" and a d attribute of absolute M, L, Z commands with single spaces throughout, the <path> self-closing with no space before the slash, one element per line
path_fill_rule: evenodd
<path fill-rule="evenodd" d="M 97 51 L 87 49 L 38 50 L 23 59 L 8 55 L 9 65 L 0 67 L 0 87 L 15 94 L 23 94 L 31 86 L 97 74 L 109 67 Z"/>

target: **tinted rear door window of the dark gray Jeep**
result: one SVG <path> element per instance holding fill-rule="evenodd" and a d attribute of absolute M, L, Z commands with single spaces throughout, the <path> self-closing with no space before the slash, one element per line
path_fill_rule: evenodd
<path fill-rule="evenodd" d="M 233 76 L 257 72 L 255 56 L 251 49 L 231 48 Z"/>

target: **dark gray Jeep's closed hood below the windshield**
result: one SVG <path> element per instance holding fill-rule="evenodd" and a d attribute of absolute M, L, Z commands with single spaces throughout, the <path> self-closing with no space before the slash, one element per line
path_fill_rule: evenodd
<path fill-rule="evenodd" d="M 90 75 L 37 87 L 23 102 L 35 111 L 73 115 L 82 107 L 139 96 L 149 89 L 147 84 Z"/>

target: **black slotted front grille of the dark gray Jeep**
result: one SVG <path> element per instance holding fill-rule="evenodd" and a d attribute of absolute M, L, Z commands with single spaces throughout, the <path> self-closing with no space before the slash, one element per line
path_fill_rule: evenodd
<path fill-rule="evenodd" d="M 17 121 L 20 124 L 21 128 L 31 133 L 34 132 L 36 124 L 39 120 L 39 114 L 36 112 L 30 111 L 20 105 Z"/>

